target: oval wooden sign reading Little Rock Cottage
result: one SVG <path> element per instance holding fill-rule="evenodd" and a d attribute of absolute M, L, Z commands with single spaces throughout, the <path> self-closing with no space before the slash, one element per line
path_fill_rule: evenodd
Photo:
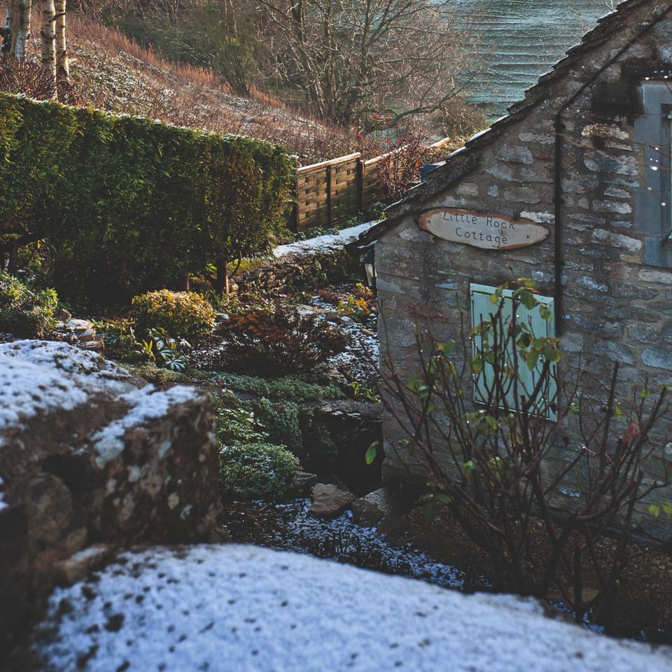
<path fill-rule="evenodd" d="M 548 229 L 529 219 L 456 208 L 423 212 L 419 227 L 437 238 L 485 250 L 515 250 L 540 243 Z"/>

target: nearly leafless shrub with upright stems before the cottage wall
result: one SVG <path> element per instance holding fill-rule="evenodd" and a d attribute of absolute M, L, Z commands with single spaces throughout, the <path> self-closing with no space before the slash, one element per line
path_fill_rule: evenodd
<path fill-rule="evenodd" d="M 404 381 L 388 363 L 384 402 L 405 431 L 414 470 L 426 474 L 430 507 L 449 507 L 489 556 L 496 586 L 540 598 L 556 589 L 580 620 L 585 570 L 598 582 L 596 600 L 612 607 L 635 509 L 668 483 L 666 471 L 646 483 L 643 465 L 656 458 L 666 465 L 665 442 L 655 437 L 671 412 L 670 395 L 666 387 L 643 391 L 626 412 L 617 399 L 618 365 L 599 402 L 582 373 L 562 384 L 559 342 L 517 316 L 520 307 L 546 320 L 552 312 L 529 281 L 514 285 L 510 297 L 505 289 L 468 336 L 471 374 L 468 344 L 460 361 L 456 343 L 423 341 L 418 377 Z M 558 461 L 563 431 L 575 449 Z M 615 550 L 598 553 L 610 533 Z"/>

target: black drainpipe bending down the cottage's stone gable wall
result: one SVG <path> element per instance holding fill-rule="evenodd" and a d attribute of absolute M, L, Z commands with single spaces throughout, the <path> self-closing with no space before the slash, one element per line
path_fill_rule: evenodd
<path fill-rule="evenodd" d="M 631 38 L 621 49 L 618 50 L 615 56 L 610 58 L 594 75 L 584 82 L 577 92 L 575 92 L 571 97 L 569 97 L 557 111 L 555 115 L 555 168 L 554 168 L 554 205 L 555 205 L 555 323 L 556 323 L 556 334 L 561 335 L 562 333 L 562 271 L 564 266 L 564 260 L 562 255 L 562 236 L 561 236 L 561 217 L 562 217 L 562 134 L 565 128 L 565 125 L 562 122 L 562 115 L 570 105 L 572 105 L 575 100 L 580 97 L 580 95 L 591 86 L 596 79 L 598 79 L 602 73 L 610 66 L 612 66 L 624 53 L 631 48 L 631 46 L 638 41 L 642 36 L 647 34 L 648 31 L 656 27 L 672 10 L 672 5 L 669 5 L 665 10 L 663 10 L 657 18 L 652 22 L 647 24 L 643 29 L 641 29 L 633 38 Z"/>

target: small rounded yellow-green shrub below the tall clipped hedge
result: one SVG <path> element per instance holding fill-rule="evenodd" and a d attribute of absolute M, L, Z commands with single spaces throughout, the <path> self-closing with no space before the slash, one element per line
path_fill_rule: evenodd
<path fill-rule="evenodd" d="M 195 292 L 162 289 L 133 297 L 132 305 L 139 332 L 162 329 L 174 338 L 196 340 L 215 324 L 213 307 Z"/>

